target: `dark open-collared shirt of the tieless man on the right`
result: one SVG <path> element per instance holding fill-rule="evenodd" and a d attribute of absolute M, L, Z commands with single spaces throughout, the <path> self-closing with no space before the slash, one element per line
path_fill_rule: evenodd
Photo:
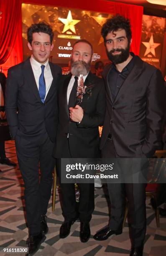
<path fill-rule="evenodd" d="M 130 53 L 133 58 L 130 62 L 123 68 L 122 72 L 119 72 L 116 69 L 115 64 L 112 64 L 110 72 L 108 74 L 108 84 L 110 86 L 112 99 L 115 100 L 117 92 L 119 91 L 120 87 L 122 86 L 123 82 L 125 81 L 126 77 L 133 69 L 135 64 L 135 54 L 133 52 Z"/>

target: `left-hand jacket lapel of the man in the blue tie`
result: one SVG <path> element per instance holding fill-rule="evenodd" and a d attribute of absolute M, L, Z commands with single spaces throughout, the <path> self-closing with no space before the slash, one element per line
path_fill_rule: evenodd
<path fill-rule="evenodd" d="M 28 86 L 31 88 L 33 94 L 36 96 L 37 100 L 41 101 L 40 95 L 38 93 L 38 87 L 35 81 L 35 77 L 33 74 L 33 70 L 31 67 L 30 59 L 27 59 L 24 62 L 23 74 L 25 77 L 25 81 L 27 82 Z"/>

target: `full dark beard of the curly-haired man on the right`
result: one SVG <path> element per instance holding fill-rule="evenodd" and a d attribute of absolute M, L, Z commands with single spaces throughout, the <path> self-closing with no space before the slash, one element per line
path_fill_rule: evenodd
<path fill-rule="evenodd" d="M 121 51 L 120 54 L 112 55 L 114 51 Z M 112 49 L 111 51 L 107 51 L 107 56 L 110 61 L 112 61 L 114 64 L 120 64 L 126 61 L 130 55 L 130 44 L 125 49 Z"/>

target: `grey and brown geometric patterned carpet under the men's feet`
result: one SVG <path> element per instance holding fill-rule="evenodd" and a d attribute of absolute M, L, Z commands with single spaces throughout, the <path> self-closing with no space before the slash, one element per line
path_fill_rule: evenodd
<path fill-rule="evenodd" d="M 6 154 L 10 160 L 17 162 L 15 145 L 13 141 L 6 143 Z M 0 255 L 25 255 L 25 253 L 4 253 L 2 248 L 27 248 L 26 239 L 28 228 L 24 217 L 23 180 L 19 167 L 11 168 L 0 164 Z M 47 222 L 49 233 L 42 243 L 36 256 L 123 256 L 129 255 L 130 240 L 128 224 L 125 224 L 123 234 L 113 236 L 106 241 L 95 241 L 92 236 L 108 223 L 107 200 L 102 188 L 95 190 L 95 210 L 90 222 L 91 238 L 87 243 L 79 240 L 79 222 L 74 223 L 70 235 L 59 239 L 59 228 L 63 222 L 59 194 L 56 193 L 55 211 L 52 212 L 51 200 L 49 202 Z M 160 217 L 160 228 L 156 228 L 155 214 L 149 198 L 146 202 L 147 234 L 143 256 L 166 255 L 166 218 Z"/>

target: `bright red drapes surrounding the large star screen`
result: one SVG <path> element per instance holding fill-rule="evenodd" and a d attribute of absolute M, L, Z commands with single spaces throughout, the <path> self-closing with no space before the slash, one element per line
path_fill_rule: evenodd
<path fill-rule="evenodd" d="M 51 7 L 58 6 L 58 7 L 68 8 L 68 10 L 70 10 L 70 9 L 80 9 L 81 11 L 82 10 L 87 10 L 87 11 L 91 10 L 94 13 L 99 13 L 99 15 L 100 15 L 100 13 L 101 14 L 120 13 L 121 15 L 124 15 L 126 18 L 129 18 L 131 21 L 132 33 L 133 33 L 133 43 L 131 45 L 131 50 L 135 54 L 139 54 L 140 38 L 141 38 L 141 31 L 142 31 L 142 15 L 143 15 L 143 7 L 141 7 L 141 6 L 115 3 L 115 2 L 111 2 L 111 1 L 105 1 L 105 0 L 91 0 L 91 1 L 89 1 L 89 0 L 84 0 L 84 1 L 40 0 L 40 2 L 38 0 L 24 0 L 22 2 L 24 4 L 33 4 L 33 5 L 37 5 L 38 3 L 40 3 L 41 8 L 43 5 L 43 6 L 51 6 Z M 3 41 L 1 40 L 1 44 L 3 44 L 3 47 L 5 44 L 5 48 L 3 48 L 3 55 L 5 54 L 5 56 L 6 56 L 8 47 L 12 47 L 12 49 L 10 49 L 10 51 L 13 50 L 15 53 L 15 54 L 13 54 L 13 59 L 8 63 L 8 65 L 6 65 L 6 62 L 4 63 L 4 58 L 2 58 L 2 48 L 0 48 L 0 53 L 1 53 L 0 66 L 2 66 L 3 68 L 5 66 L 10 67 L 13 64 L 15 64 L 14 62 L 19 63 L 20 61 L 23 60 L 22 41 L 20 39 L 20 36 L 21 36 L 21 31 L 20 31 L 21 12 L 20 12 L 20 10 L 21 10 L 21 0 L 13 0 L 13 1 L 0 0 L 0 11 L 3 12 L 1 15 L 2 18 L 0 19 L 0 38 L 2 38 L 2 35 L 3 35 L 4 39 L 3 39 Z M 28 12 L 27 12 L 27 15 L 28 15 Z M 15 18 L 13 18 L 13 17 L 15 17 Z M 62 15 L 61 15 L 61 18 L 66 18 L 66 16 L 62 17 Z M 2 19 L 4 19 L 3 23 L 2 23 Z M 60 20 L 59 20 L 59 23 L 62 23 L 62 25 L 63 25 L 63 22 L 60 22 Z M 79 26 L 79 23 L 77 23 L 77 24 Z M 9 38 L 13 39 L 12 45 L 9 44 L 9 40 L 7 40 L 7 36 L 9 36 Z M 18 40 L 16 38 L 18 38 Z M 5 49 L 5 52 L 4 52 L 4 49 Z M 16 56 L 16 54 L 17 54 L 17 56 Z M 17 58 L 15 58 L 15 56 Z"/>

